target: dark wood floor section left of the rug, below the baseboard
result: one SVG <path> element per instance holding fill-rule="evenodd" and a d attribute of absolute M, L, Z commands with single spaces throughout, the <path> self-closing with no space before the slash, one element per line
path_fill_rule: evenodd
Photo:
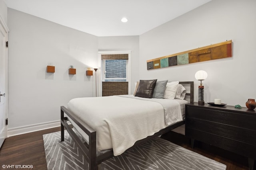
<path fill-rule="evenodd" d="M 33 170 L 47 170 L 42 135 L 56 131 L 60 127 L 5 139 L 0 150 L 0 169 L 2 165 L 33 165 Z"/>

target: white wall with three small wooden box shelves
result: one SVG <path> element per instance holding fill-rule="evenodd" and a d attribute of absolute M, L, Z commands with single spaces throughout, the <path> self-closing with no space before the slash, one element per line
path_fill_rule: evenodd
<path fill-rule="evenodd" d="M 86 69 L 97 63 L 98 37 L 10 8 L 8 27 L 9 135 L 51 126 L 70 99 L 95 96 Z M 55 73 L 46 72 L 50 63 Z M 76 75 L 68 74 L 70 65 Z"/>

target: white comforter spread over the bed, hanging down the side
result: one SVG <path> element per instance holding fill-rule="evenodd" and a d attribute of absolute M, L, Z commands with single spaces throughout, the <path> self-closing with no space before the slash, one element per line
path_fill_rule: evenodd
<path fill-rule="evenodd" d="M 133 95 L 75 98 L 68 102 L 68 109 L 96 130 L 97 151 L 113 149 L 115 156 L 136 141 L 182 121 L 175 100 Z"/>

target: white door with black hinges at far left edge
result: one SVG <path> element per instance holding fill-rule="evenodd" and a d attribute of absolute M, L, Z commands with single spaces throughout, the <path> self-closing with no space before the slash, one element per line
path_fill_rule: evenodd
<path fill-rule="evenodd" d="M 0 22 L 0 147 L 2 146 L 4 139 L 7 137 L 6 127 L 6 93 L 7 93 L 7 67 L 8 67 L 8 50 L 6 47 L 7 33 Z"/>

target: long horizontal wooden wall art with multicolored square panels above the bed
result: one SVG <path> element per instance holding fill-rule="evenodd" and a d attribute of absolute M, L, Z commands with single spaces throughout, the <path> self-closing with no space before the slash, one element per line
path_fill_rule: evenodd
<path fill-rule="evenodd" d="M 147 69 L 152 70 L 226 57 L 232 57 L 232 40 L 148 60 Z"/>

